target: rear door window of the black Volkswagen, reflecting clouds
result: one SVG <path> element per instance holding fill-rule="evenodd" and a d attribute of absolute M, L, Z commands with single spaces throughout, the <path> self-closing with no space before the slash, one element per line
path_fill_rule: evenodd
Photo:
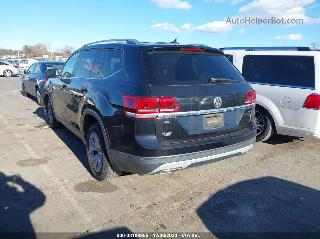
<path fill-rule="evenodd" d="M 75 77 L 89 78 L 92 70 L 94 60 L 96 59 L 99 50 L 88 50 L 82 53 L 78 67 L 76 69 Z"/>

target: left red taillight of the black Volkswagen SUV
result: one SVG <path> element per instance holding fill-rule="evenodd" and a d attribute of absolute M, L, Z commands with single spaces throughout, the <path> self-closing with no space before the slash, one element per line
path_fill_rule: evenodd
<path fill-rule="evenodd" d="M 173 97 L 123 95 L 122 105 L 125 115 L 135 119 L 155 119 L 159 113 L 180 111 L 180 105 Z"/>

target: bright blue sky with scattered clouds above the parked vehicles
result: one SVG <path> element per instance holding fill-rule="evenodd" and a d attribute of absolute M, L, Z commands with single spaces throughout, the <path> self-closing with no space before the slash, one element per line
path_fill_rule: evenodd
<path fill-rule="evenodd" d="M 211 47 L 310 46 L 320 41 L 320 0 L 1 0 L 0 48 L 114 38 Z M 23 6 L 22 8 L 18 6 Z M 14 9 L 17 7 L 19 11 Z M 301 18 L 298 25 L 225 24 L 228 17 Z M 21 20 L 23 19 L 23 21 Z M 5 32 L 5 34 L 4 34 Z M 291 35 L 290 35 L 291 34 Z"/>

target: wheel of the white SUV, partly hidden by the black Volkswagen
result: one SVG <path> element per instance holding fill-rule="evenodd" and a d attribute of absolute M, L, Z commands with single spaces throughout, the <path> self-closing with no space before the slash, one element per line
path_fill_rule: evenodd
<path fill-rule="evenodd" d="M 276 132 L 275 123 L 266 109 L 256 106 L 254 119 L 257 124 L 257 142 L 265 141 L 274 135 Z"/>

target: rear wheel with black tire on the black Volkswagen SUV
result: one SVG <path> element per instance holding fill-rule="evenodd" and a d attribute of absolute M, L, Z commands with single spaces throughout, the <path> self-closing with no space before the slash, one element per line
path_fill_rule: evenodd
<path fill-rule="evenodd" d="M 99 142 L 99 147 L 97 147 L 97 150 L 89 150 L 89 146 L 92 145 L 90 144 L 90 140 L 92 140 L 92 136 L 96 136 L 98 138 Z M 94 143 L 96 140 L 93 141 Z M 115 179 L 117 176 L 120 176 L 122 171 L 116 170 L 113 168 L 113 166 L 110 163 L 108 153 L 107 153 L 107 148 L 104 142 L 103 134 L 100 128 L 99 123 L 94 123 L 90 126 L 88 133 L 87 133 L 87 138 L 86 138 L 86 145 L 87 145 L 87 157 L 88 157 L 88 162 L 90 165 L 90 169 L 92 172 L 92 175 L 95 179 L 99 181 L 107 181 L 111 179 Z M 96 152 L 96 153 L 95 153 Z M 91 159 L 94 158 L 94 156 L 97 156 L 97 164 L 91 162 Z M 99 161 L 100 160 L 100 161 Z M 100 164 L 100 170 L 95 170 L 93 167 L 99 169 L 98 166 L 98 161 Z"/>

